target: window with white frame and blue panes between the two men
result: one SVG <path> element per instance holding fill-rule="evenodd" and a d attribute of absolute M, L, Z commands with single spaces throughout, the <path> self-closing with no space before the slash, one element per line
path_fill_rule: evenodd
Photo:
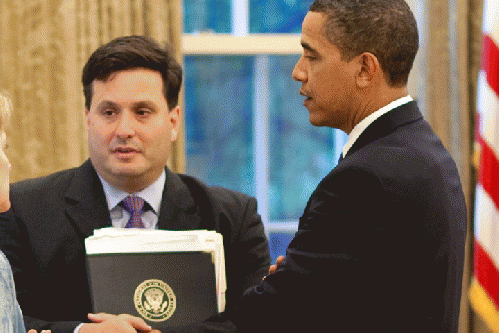
<path fill-rule="evenodd" d="M 346 135 L 308 122 L 291 73 L 303 0 L 185 0 L 186 172 L 255 196 L 273 259 Z"/>

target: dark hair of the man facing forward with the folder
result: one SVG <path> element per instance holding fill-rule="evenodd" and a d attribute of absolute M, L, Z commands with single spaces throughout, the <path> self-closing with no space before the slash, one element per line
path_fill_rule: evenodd
<path fill-rule="evenodd" d="M 182 68 L 173 57 L 170 47 L 165 45 L 165 48 L 161 48 L 149 37 L 126 36 L 113 39 L 99 47 L 85 64 L 81 76 L 85 107 L 90 109 L 94 80 L 106 81 L 115 72 L 133 68 L 160 72 L 168 107 L 171 110 L 177 106 L 182 84 Z"/>

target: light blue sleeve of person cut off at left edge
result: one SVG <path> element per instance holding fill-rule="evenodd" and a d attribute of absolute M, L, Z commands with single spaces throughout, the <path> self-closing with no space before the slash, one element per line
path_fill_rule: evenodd
<path fill-rule="evenodd" d="M 9 261 L 0 251 L 0 332 L 26 333 Z"/>

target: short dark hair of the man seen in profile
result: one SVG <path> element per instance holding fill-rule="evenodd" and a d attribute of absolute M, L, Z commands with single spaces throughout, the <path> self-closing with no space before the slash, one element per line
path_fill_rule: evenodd
<path fill-rule="evenodd" d="M 327 16 L 326 36 L 342 60 L 370 52 L 391 86 L 407 84 L 419 40 L 416 20 L 404 0 L 315 0 L 309 10 Z"/>

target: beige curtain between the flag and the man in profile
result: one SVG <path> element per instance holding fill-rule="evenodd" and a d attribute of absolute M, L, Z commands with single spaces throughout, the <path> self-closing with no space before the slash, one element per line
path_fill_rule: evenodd
<path fill-rule="evenodd" d="M 488 332 L 472 313 L 468 300 L 476 184 L 472 155 L 483 0 L 426 0 L 420 6 L 423 45 L 418 63 L 418 99 L 426 118 L 457 162 L 469 211 L 459 332 Z"/>

